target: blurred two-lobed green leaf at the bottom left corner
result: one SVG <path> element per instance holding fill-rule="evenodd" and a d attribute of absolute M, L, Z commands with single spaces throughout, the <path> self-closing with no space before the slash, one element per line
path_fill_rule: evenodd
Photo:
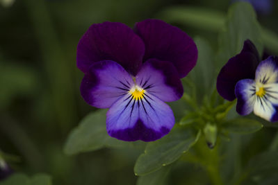
<path fill-rule="evenodd" d="M 22 173 L 16 173 L 3 182 L 0 185 L 51 185 L 51 177 L 45 174 L 37 174 L 31 178 Z"/>

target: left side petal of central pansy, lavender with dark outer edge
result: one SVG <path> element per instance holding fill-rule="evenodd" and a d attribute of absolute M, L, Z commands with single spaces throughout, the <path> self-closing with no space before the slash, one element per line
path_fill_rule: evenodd
<path fill-rule="evenodd" d="M 117 62 L 104 60 L 93 64 L 81 82 L 84 100 L 97 108 L 106 109 L 124 96 L 134 83 Z"/>

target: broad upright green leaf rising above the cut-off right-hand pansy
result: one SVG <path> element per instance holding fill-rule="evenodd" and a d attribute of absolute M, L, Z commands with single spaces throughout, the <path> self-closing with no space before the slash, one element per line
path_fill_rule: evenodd
<path fill-rule="evenodd" d="M 219 67 L 229 58 L 240 53 L 246 39 L 252 40 L 260 55 L 263 53 L 261 26 L 256 20 L 256 12 L 247 2 L 238 2 L 230 6 L 227 23 L 219 38 Z"/>

